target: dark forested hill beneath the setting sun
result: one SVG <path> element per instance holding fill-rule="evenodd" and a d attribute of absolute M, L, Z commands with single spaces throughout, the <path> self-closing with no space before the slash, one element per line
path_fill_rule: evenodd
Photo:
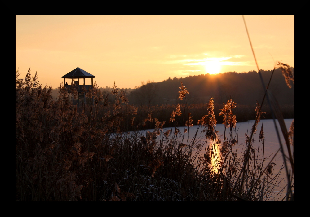
<path fill-rule="evenodd" d="M 291 68 L 294 74 L 294 68 Z M 263 81 L 268 85 L 272 70 L 261 70 Z M 253 105 L 263 99 L 263 86 L 259 73 L 227 72 L 215 75 L 201 74 L 186 78 L 168 78 L 162 82 L 147 82 L 130 92 L 129 101 L 133 104 L 175 104 L 178 99 L 180 83 L 188 90 L 186 95 L 188 103 L 206 103 L 212 96 L 215 103 L 226 103 L 231 97 L 238 104 Z M 294 84 L 290 89 L 285 82 L 280 69 L 273 73 L 269 90 L 278 100 L 279 104 L 294 104 Z"/>

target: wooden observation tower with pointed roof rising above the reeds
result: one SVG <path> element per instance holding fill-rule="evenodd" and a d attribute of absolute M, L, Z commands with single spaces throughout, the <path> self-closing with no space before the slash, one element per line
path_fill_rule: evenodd
<path fill-rule="evenodd" d="M 93 78 L 95 78 L 95 76 L 84 71 L 83 69 L 76 68 L 76 69 L 73 69 L 68 74 L 65 74 L 61 78 L 64 79 L 64 84 L 66 83 L 66 78 L 67 79 L 77 79 L 76 81 L 74 81 L 74 84 L 65 85 L 65 88 L 68 89 L 68 93 L 70 93 L 72 90 L 71 86 L 72 85 L 76 86 L 77 91 L 78 91 L 78 100 L 76 100 L 76 101 L 73 100 L 73 104 L 78 104 L 79 102 L 82 102 L 82 100 L 84 101 L 84 104 L 85 104 L 85 92 L 88 92 L 90 89 L 93 88 Z M 83 78 L 83 82 L 81 84 L 79 82 L 79 79 L 82 79 L 82 78 Z M 91 78 L 91 85 L 85 85 L 85 78 Z M 84 91 L 84 92 L 83 92 L 83 86 L 85 86 L 85 89 L 86 89 L 86 91 Z"/>

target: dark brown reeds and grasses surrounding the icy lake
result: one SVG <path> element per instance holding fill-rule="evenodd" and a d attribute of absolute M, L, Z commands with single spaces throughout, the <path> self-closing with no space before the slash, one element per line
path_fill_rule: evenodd
<path fill-rule="evenodd" d="M 294 82 L 287 65 L 277 67 L 288 85 Z M 264 145 L 263 127 L 256 129 L 267 110 L 264 105 L 263 110 L 256 104 L 250 111 L 229 99 L 220 107 L 212 97 L 206 104 L 188 105 L 182 83 L 175 92 L 184 103 L 158 109 L 129 105 L 124 91 L 115 85 L 110 93 L 113 103 L 95 84 L 86 94 L 94 103 L 82 106 L 72 103 L 72 95 L 77 96 L 74 89 L 70 95 L 64 86 L 59 90 L 53 100 L 51 87 L 42 87 L 37 74 L 31 78 L 29 69 L 20 79 L 16 72 L 16 201 L 266 201 L 275 186 L 279 173 L 273 174 L 273 158 L 263 159 L 256 151 Z M 294 122 L 287 131 L 280 106 L 266 93 L 286 141 L 279 151 L 287 149 L 290 161 L 284 165 L 289 183 L 285 199 L 294 201 L 294 152 L 290 152 Z M 256 121 L 246 136 L 244 153 L 237 156 L 234 146 L 240 144 L 232 131 L 246 113 Z M 216 117 L 226 126 L 223 141 L 214 129 Z M 206 133 L 205 143 L 178 139 L 183 134 L 179 125 L 197 123 Z M 168 124 L 174 131 L 163 131 Z M 138 131 L 126 132 L 145 127 L 155 128 L 154 132 L 145 137 Z M 259 141 L 252 139 L 256 131 Z M 222 144 L 220 158 L 218 144 Z"/>

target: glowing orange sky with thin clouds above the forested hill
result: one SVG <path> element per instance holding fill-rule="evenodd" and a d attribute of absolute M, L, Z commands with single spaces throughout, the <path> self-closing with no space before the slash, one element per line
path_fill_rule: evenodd
<path fill-rule="evenodd" d="M 245 19 L 260 69 L 295 67 L 294 16 Z M 242 16 L 16 16 L 15 71 L 23 78 L 29 67 L 53 88 L 77 67 L 119 88 L 257 71 Z"/>

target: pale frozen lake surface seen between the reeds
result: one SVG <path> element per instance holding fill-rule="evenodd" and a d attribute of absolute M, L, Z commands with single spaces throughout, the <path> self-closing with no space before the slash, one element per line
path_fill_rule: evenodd
<path fill-rule="evenodd" d="M 285 119 L 284 121 L 286 124 L 287 131 L 289 131 L 289 128 L 290 128 L 290 125 L 291 125 L 293 119 Z M 245 133 L 247 133 L 250 136 L 250 131 L 251 131 L 251 128 L 252 128 L 252 125 L 254 124 L 254 122 L 255 122 L 255 120 L 250 120 L 247 122 L 239 122 L 236 124 L 235 132 L 233 133 L 234 134 L 233 136 L 234 136 L 234 139 L 237 140 L 237 144 L 233 148 L 235 148 L 235 150 L 237 150 L 238 156 L 241 156 L 241 154 L 244 152 L 245 146 L 243 144 L 245 143 Z M 262 151 L 263 149 L 261 146 L 260 147 L 258 146 L 258 144 L 259 144 L 259 132 L 260 132 L 262 124 L 263 124 L 264 136 L 265 136 L 264 151 Z M 280 131 L 281 142 L 282 142 L 282 144 L 284 144 L 285 142 L 284 142 L 283 136 L 281 135 L 281 129 L 280 129 L 280 126 L 278 125 L 278 123 L 277 123 L 277 126 L 278 126 L 278 130 Z M 219 137 L 223 143 L 224 125 L 217 124 L 215 128 L 216 128 L 216 131 L 219 131 L 218 135 L 219 135 Z M 185 129 L 187 129 L 186 133 L 184 133 Z M 171 128 L 171 127 L 163 128 L 162 132 L 166 132 L 167 130 L 172 131 L 172 132 L 170 132 L 170 135 L 171 135 L 174 133 L 175 128 Z M 182 143 L 188 144 L 188 141 L 192 141 L 194 139 L 194 135 L 197 132 L 195 144 L 208 144 L 208 141 L 205 138 L 205 134 L 201 133 L 202 130 L 203 130 L 203 128 L 201 128 L 199 126 L 193 126 L 189 129 L 188 129 L 188 127 L 179 127 L 179 133 L 177 136 L 178 136 L 179 141 L 183 141 Z M 153 132 L 153 130 L 151 129 L 151 130 L 140 131 L 140 133 L 142 135 L 146 136 L 147 131 Z M 226 137 L 227 137 L 227 129 L 226 129 Z M 270 162 L 270 160 L 272 159 L 272 157 L 274 156 L 274 154 L 280 148 L 273 120 L 261 120 L 257 126 L 257 132 L 254 134 L 253 139 L 255 140 L 255 145 L 254 145 L 255 151 L 259 151 L 259 153 L 261 153 L 259 155 L 259 157 L 268 158 L 264 162 L 264 165 L 265 164 L 267 165 Z M 218 148 L 220 148 L 220 147 L 221 147 L 221 145 L 219 145 Z M 292 146 L 291 146 L 291 148 L 292 148 Z M 284 149 L 286 149 L 285 146 L 284 146 Z M 201 156 L 203 156 L 204 151 L 205 151 L 205 149 L 202 148 L 200 151 Z M 276 175 L 278 173 L 278 171 L 281 169 L 281 167 L 284 167 L 283 157 L 282 157 L 281 151 L 279 151 L 277 153 L 277 155 L 272 160 L 272 162 L 274 162 L 276 164 L 274 166 L 274 170 L 273 170 L 273 175 Z M 290 166 L 288 166 L 288 168 L 290 168 Z M 277 181 L 275 183 L 277 184 L 277 187 L 275 187 L 273 189 L 273 192 L 270 192 L 270 194 L 268 195 L 268 198 L 269 198 L 269 200 L 272 200 L 272 201 L 281 201 L 281 199 L 283 197 L 285 197 L 285 194 L 286 194 L 285 186 L 287 184 L 287 178 L 286 178 L 285 169 L 283 169 L 281 171 L 279 178 L 277 179 Z M 284 190 L 284 192 L 281 192 L 281 189 L 283 189 L 283 188 L 285 188 L 285 190 Z"/>

